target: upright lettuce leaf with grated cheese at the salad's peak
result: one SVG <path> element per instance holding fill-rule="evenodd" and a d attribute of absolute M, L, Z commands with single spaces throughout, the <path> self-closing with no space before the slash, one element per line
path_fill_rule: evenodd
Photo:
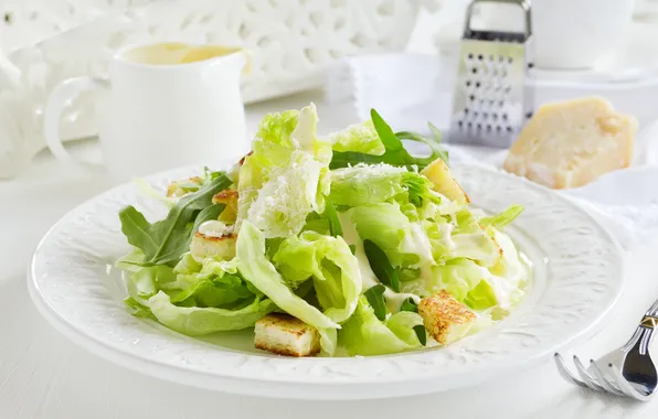
<path fill-rule="evenodd" d="M 237 225 L 248 219 L 265 237 L 301 232 L 329 193 L 331 144 L 317 138 L 315 106 L 268 115 L 240 171 Z"/>

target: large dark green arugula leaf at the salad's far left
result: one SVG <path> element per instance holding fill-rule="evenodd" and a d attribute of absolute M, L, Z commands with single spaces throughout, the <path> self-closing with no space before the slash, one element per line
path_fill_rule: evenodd
<path fill-rule="evenodd" d="M 121 210 L 119 213 L 121 232 L 130 245 L 144 251 L 145 257 L 140 265 L 176 265 L 189 247 L 200 213 L 212 206 L 212 196 L 227 189 L 231 183 L 232 181 L 224 173 L 219 173 L 199 192 L 181 197 L 164 219 L 153 224 L 149 223 L 132 205 Z M 208 217 L 217 211 L 219 207 L 206 210 L 203 218 L 209 219 Z"/>

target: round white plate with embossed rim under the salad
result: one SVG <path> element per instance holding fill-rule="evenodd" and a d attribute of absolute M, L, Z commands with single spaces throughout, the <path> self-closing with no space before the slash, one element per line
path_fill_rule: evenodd
<path fill-rule="evenodd" d="M 188 168 L 149 180 L 163 187 L 193 172 Z M 45 235 L 32 261 L 31 296 L 57 330 L 119 365 L 177 383 L 283 398 L 388 398 L 473 385 L 591 336 L 622 289 L 616 241 L 584 211 L 541 186 L 484 169 L 457 168 L 455 175 L 479 207 L 526 205 L 509 233 L 533 261 L 534 276 L 510 316 L 445 348 L 287 358 L 253 350 L 251 331 L 199 340 L 131 316 L 121 303 L 120 273 L 112 269 L 129 249 L 117 214 L 135 204 L 153 219 L 164 208 L 130 184 L 73 210 Z"/>

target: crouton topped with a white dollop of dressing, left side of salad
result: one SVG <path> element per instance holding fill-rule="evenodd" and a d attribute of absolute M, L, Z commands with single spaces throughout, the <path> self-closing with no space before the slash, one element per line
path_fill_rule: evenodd
<path fill-rule="evenodd" d="M 219 221 L 203 223 L 190 243 L 190 253 L 194 260 L 201 262 L 208 257 L 231 260 L 235 257 L 237 234 L 233 226 Z"/>

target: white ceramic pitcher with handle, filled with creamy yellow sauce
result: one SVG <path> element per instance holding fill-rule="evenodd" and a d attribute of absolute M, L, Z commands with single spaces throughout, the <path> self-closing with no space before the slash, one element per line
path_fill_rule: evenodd
<path fill-rule="evenodd" d="M 240 49 L 147 44 L 118 52 L 109 79 L 71 78 L 50 95 L 44 136 L 53 154 L 84 168 L 105 166 L 128 180 L 188 164 L 237 161 L 248 151 L 240 77 Z M 99 138 L 103 163 L 76 159 L 62 146 L 60 117 L 84 90 L 107 90 Z"/>

